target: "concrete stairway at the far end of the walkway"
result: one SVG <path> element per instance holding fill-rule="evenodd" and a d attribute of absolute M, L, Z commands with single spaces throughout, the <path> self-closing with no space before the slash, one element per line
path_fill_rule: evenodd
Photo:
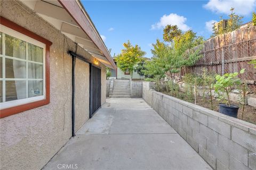
<path fill-rule="evenodd" d="M 114 80 L 113 90 L 109 93 L 110 98 L 130 98 L 130 80 Z"/>

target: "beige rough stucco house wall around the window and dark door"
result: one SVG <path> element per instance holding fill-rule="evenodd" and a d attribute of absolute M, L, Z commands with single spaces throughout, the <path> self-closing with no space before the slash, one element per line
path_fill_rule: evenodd
<path fill-rule="evenodd" d="M 16 2 L 23 8 L 14 1 L 1 1 L 1 16 L 53 43 L 50 47 L 50 104 L 1 118 L 0 169 L 41 169 L 71 137 L 71 57 L 67 51 L 75 51 L 75 44 L 22 3 Z M 77 53 L 93 60 L 79 46 Z M 77 130 L 89 117 L 89 66 L 78 60 L 75 83 Z M 102 81 L 102 89 L 106 89 L 105 84 Z M 104 91 L 102 96 L 106 98 Z M 102 97 L 102 101 L 105 98 Z"/>

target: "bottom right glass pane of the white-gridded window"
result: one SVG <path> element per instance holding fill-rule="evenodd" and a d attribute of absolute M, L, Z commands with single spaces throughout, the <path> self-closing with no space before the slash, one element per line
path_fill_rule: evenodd
<path fill-rule="evenodd" d="M 43 81 L 28 81 L 28 97 L 42 96 Z"/>

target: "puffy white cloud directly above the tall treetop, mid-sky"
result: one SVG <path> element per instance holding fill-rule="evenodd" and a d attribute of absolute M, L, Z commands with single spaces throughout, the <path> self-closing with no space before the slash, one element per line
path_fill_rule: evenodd
<path fill-rule="evenodd" d="M 179 29 L 181 29 L 182 31 L 187 31 L 190 29 L 190 27 L 188 27 L 188 25 L 185 24 L 186 21 L 187 18 L 185 18 L 184 16 L 180 16 L 174 13 L 171 13 L 169 15 L 165 14 L 160 18 L 159 22 L 155 23 L 154 25 L 151 25 L 151 29 L 162 29 L 166 25 L 171 24 L 177 25 Z"/>

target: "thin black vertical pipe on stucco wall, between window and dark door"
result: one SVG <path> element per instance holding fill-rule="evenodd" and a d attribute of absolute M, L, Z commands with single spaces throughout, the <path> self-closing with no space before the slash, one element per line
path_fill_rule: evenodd
<path fill-rule="evenodd" d="M 76 57 L 72 55 L 72 137 L 75 137 L 75 64 Z"/>

